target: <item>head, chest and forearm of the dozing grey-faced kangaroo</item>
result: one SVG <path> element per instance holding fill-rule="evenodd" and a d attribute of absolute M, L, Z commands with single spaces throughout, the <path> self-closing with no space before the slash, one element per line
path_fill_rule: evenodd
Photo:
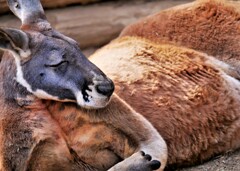
<path fill-rule="evenodd" d="M 0 29 L 0 170 L 163 170 L 165 141 L 112 95 L 113 82 L 74 40 L 51 28 L 40 1 L 8 4 L 22 26 Z M 56 111 L 64 105 L 77 118 Z"/>

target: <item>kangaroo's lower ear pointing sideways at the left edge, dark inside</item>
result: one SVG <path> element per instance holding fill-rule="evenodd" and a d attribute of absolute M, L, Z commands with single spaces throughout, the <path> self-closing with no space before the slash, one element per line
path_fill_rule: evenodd
<path fill-rule="evenodd" d="M 28 36 L 21 30 L 0 28 L 0 49 L 8 50 L 19 54 L 21 57 L 28 57 Z"/>

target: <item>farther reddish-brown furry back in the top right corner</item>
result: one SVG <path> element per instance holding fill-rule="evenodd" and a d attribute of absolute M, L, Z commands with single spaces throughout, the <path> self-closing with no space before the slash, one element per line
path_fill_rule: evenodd
<path fill-rule="evenodd" d="M 200 0 L 161 11 L 126 27 L 139 36 L 205 52 L 240 69 L 240 3 Z"/>

